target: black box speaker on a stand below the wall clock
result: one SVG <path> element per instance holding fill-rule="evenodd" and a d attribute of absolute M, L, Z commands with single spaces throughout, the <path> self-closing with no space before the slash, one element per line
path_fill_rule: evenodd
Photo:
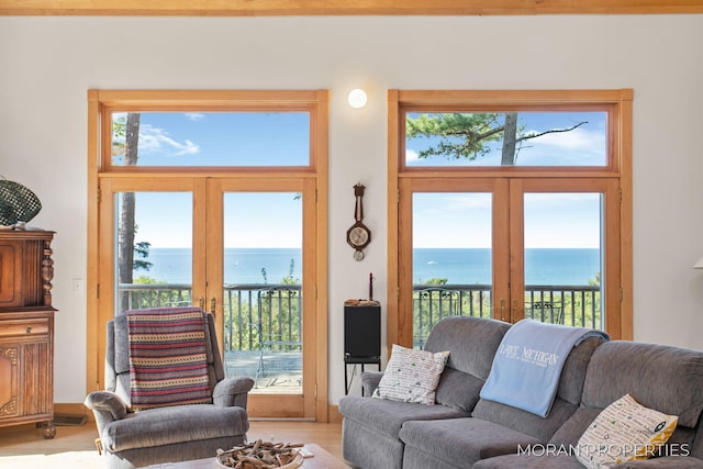
<path fill-rule="evenodd" d="M 381 306 L 344 306 L 344 355 L 381 356 Z"/>

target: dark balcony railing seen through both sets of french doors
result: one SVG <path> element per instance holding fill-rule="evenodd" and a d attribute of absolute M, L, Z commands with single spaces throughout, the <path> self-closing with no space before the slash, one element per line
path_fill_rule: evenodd
<path fill-rule="evenodd" d="M 224 349 L 274 351 L 301 350 L 300 284 L 225 284 Z M 133 283 L 120 286 L 123 309 L 196 304 L 189 284 Z M 446 316 L 491 317 L 489 284 L 413 287 L 414 345 L 422 347 L 439 320 Z M 543 322 L 603 330 L 601 291 L 598 286 L 526 286 L 522 308 L 525 317 Z M 507 312 L 505 312 L 507 314 Z M 495 314 L 500 315 L 499 312 Z"/>

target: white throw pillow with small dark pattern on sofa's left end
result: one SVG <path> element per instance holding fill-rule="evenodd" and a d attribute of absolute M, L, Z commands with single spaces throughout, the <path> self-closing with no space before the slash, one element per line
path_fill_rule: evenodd
<path fill-rule="evenodd" d="M 391 359 L 373 398 L 434 405 L 435 390 L 447 358 L 448 351 L 433 354 L 393 344 Z"/>

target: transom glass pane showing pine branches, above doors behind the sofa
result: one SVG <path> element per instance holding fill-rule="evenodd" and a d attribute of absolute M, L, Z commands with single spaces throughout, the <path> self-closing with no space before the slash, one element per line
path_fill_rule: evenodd
<path fill-rule="evenodd" d="M 605 166 L 607 113 L 426 112 L 405 116 L 406 166 Z"/>

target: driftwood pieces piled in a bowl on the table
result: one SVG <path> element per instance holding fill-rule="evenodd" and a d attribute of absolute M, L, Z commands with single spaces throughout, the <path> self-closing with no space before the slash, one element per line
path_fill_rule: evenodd
<path fill-rule="evenodd" d="M 219 467 L 234 469 L 295 469 L 303 464 L 299 453 L 302 443 L 271 443 L 257 439 L 235 446 L 228 450 L 217 450 L 215 462 Z"/>

